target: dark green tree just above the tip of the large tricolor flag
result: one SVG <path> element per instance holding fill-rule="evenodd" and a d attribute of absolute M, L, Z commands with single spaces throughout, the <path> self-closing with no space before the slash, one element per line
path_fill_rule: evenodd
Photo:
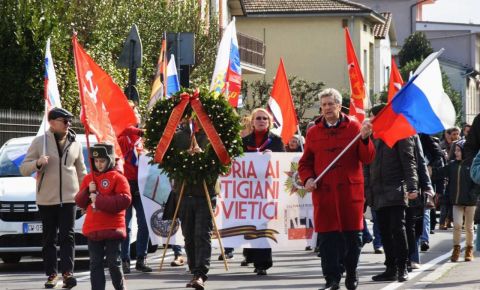
<path fill-rule="evenodd" d="M 405 43 L 398 53 L 400 66 L 403 67 L 410 61 L 423 60 L 432 52 L 432 46 L 425 33 L 415 32 L 405 39 Z"/>

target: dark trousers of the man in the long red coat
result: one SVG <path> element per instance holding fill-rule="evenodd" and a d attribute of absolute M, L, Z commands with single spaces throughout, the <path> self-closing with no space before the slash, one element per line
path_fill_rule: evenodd
<path fill-rule="evenodd" d="M 328 282 L 340 282 L 344 270 L 354 273 L 362 250 L 362 231 L 318 233 L 322 272 Z"/>

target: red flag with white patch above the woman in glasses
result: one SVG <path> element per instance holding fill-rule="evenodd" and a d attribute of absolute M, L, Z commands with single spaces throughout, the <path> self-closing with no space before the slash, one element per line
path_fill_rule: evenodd
<path fill-rule="evenodd" d="M 275 126 L 279 128 L 283 143 L 288 143 L 297 131 L 297 113 L 293 105 L 292 93 L 288 85 L 287 73 L 280 59 L 277 75 L 273 82 L 272 93 L 268 100 L 268 107 L 272 112 Z"/>

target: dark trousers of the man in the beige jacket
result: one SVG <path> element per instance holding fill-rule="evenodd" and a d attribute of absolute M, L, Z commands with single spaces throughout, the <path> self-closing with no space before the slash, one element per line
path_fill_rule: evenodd
<path fill-rule="evenodd" d="M 73 273 L 75 260 L 75 211 L 74 203 L 63 205 L 39 205 L 43 227 L 43 263 L 45 274 L 58 273 L 57 244 L 60 246 L 61 273 Z"/>

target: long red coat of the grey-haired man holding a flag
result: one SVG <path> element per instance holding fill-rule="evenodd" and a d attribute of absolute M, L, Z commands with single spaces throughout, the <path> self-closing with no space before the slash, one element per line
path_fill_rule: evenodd
<path fill-rule="evenodd" d="M 324 118 L 307 132 L 298 163 L 303 182 L 316 178 L 360 133 L 360 123 L 344 114 L 338 126 L 327 128 Z M 364 177 L 362 165 L 373 161 L 375 147 L 368 138 L 357 140 L 317 183 L 312 192 L 316 232 L 363 229 Z"/>

